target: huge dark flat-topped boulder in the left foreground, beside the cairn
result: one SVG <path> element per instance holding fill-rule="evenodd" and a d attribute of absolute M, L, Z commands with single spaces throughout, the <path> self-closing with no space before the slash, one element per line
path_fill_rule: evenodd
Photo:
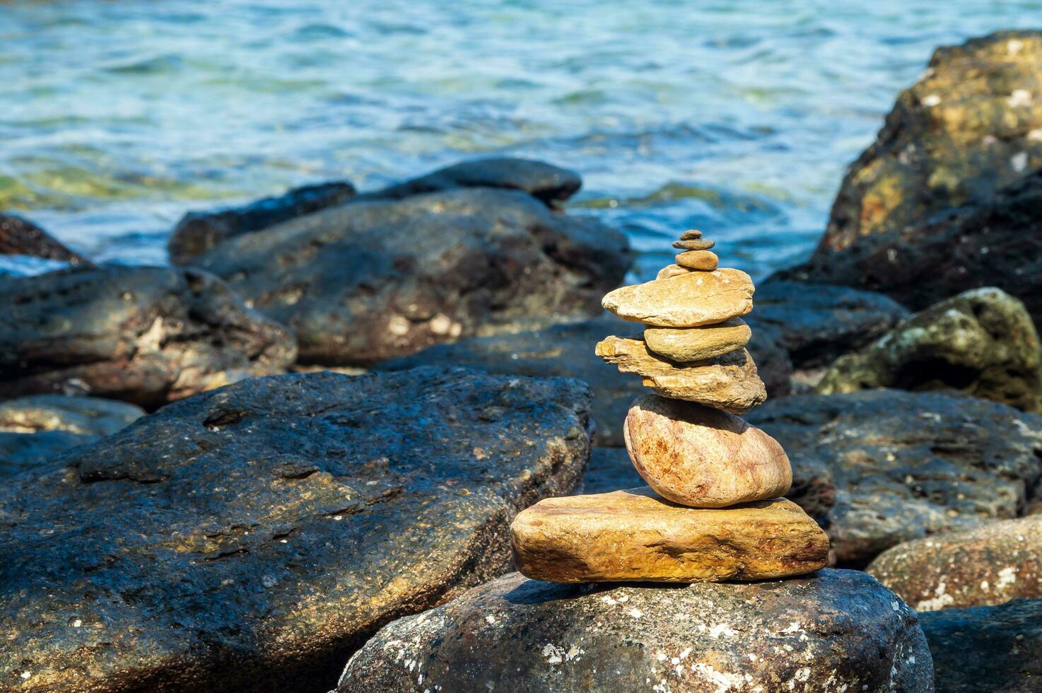
<path fill-rule="evenodd" d="M 578 481 L 577 380 L 249 379 L 0 486 L 0 671 L 25 690 L 327 691 L 393 618 L 504 572 Z"/>

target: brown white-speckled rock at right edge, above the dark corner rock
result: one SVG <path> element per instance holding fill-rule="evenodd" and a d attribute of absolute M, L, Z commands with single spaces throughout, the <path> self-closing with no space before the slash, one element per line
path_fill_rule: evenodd
<path fill-rule="evenodd" d="M 904 542 L 868 567 L 916 611 L 1042 597 L 1042 516 Z"/>

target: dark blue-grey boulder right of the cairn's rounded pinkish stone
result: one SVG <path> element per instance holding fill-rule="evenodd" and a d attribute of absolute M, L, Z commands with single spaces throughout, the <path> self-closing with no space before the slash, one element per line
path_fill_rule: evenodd
<path fill-rule="evenodd" d="M 1042 419 L 988 400 L 867 390 L 772 399 L 747 417 L 794 475 L 825 465 L 836 502 L 819 518 L 843 565 L 900 542 L 1014 518 L 1042 472 Z"/>

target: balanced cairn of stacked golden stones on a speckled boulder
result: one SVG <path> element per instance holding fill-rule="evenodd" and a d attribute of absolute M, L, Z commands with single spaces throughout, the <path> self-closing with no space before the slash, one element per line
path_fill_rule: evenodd
<path fill-rule="evenodd" d="M 609 337 L 597 355 L 655 394 L 634 400 L 626 449 L 647 487 L 548 498 L 511 527 L 517 568 L 554 583 L 755 580 L 814 572 L 828 538 L 782 496 L 792 468 L 782 446 L 736 415 L 767 397 L 745 345 L 749 275 L 717 269 L 713 241 L 686 231 L 676 264 L 602 301 L 644 324 Z"/>

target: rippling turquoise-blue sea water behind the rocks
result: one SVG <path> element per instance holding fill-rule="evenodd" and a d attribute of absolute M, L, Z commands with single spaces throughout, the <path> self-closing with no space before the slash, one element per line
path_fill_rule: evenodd
<path fill-rule="evenodd" d="M 760 277 L 810 252 L 935 46 L 1033 25 L 1042 2 L 0 2 L 0 209 L 162 263 L 190 208 L 511 154 L 578 170 L 639 276 L 698 227 Z"/>

